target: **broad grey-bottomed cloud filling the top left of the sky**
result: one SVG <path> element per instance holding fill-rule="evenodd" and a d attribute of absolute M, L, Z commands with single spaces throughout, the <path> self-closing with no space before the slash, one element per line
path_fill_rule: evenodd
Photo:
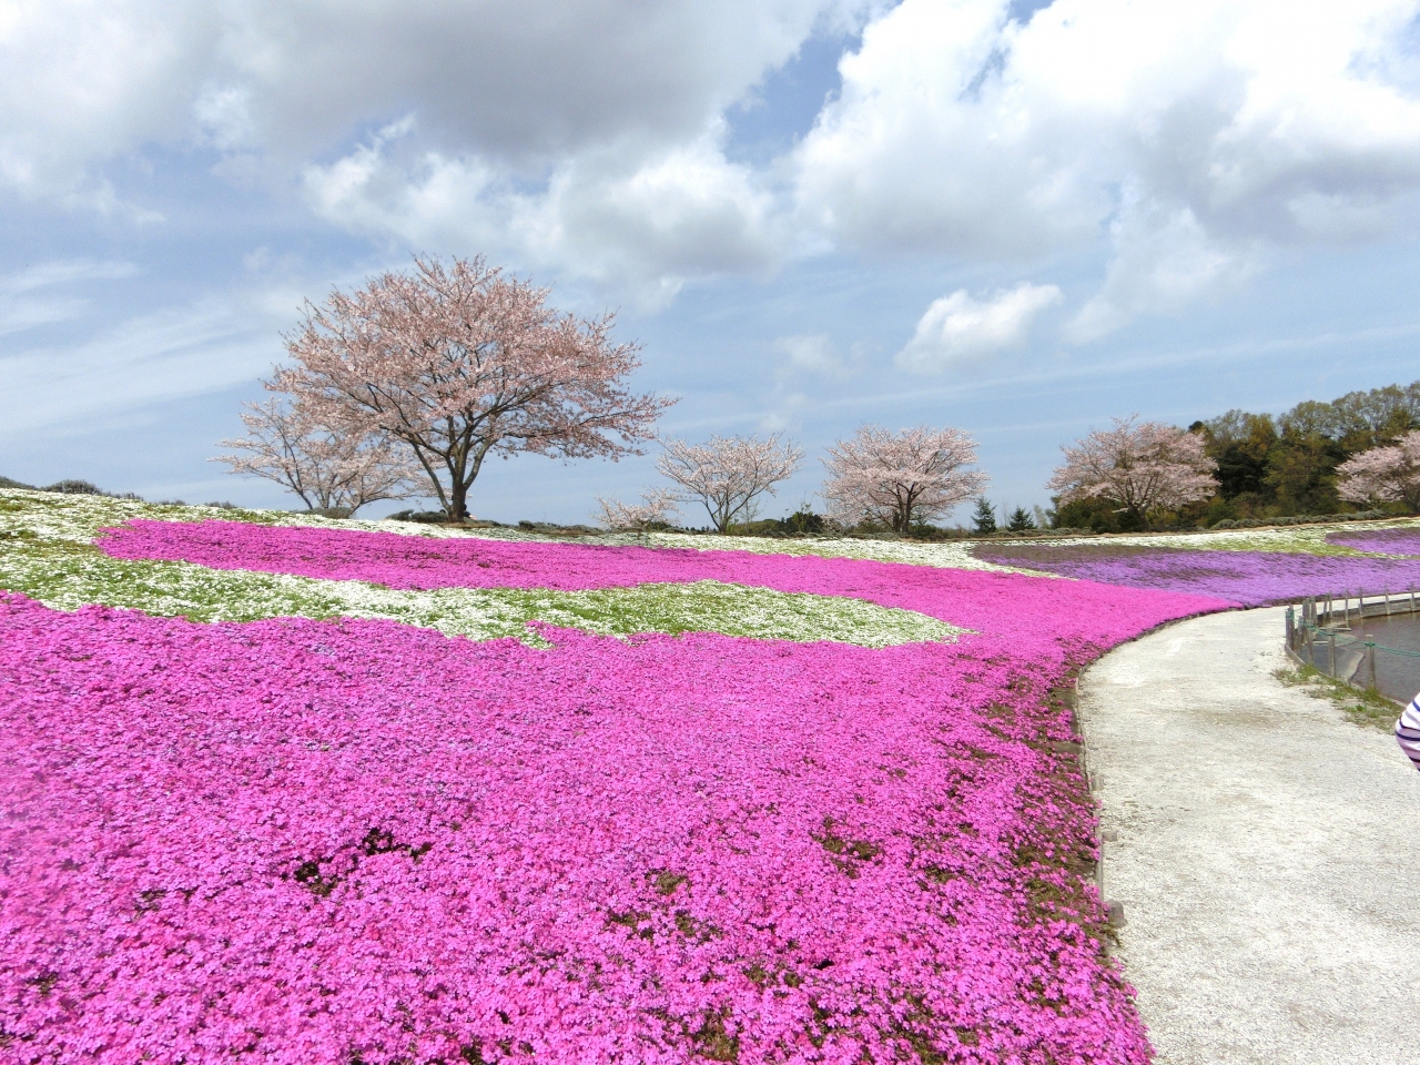
<path fill-rule="evenodd" d="M 151 143 L 258 148 L 287 170 L 416 112 L 426 149 L 527 172 L 683 145 L 866 0 L 14 0 L 0 173 L 34 192 Z"/>

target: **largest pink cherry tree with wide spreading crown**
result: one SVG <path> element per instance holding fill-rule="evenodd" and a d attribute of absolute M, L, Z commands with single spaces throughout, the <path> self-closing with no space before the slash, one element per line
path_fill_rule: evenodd
<path fill-rule="evenodd" d="M 450 521 L 490 456 L 639 454 L 674 402 L 628 388 L 640 362 L 612 342 L 613 315 L 561 314 L 483 258 L 415 267 L 307 304 L 274 385 L 325 423 L 403 442 Z"/>

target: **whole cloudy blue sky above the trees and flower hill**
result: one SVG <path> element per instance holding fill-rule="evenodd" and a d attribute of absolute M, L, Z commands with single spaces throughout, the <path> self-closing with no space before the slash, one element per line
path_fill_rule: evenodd
<path fill-rule="evenodd" d="M 615 311 L 663 435 L 802 446 L 768 517 L 865 422 L 1048 506 L 1112 417 L 1420 378 L 1417 7 L 0 0 L 0 476 L 298 507 L 212 457 L 304 301 L 483 254 Z M 470 508 L 657 484 L 523 456 Z"/>

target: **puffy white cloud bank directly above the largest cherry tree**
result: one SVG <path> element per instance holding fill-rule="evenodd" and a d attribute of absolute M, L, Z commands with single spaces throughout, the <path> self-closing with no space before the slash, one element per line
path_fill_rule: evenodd
<path fill-rule="evenodd" d="M 317 213 L 415 247 L 515 254 L 650 304 L 689 277 L 763 270 L 778 257 L 771 197 L 726 160 L 719 126 L 665 152 L 585 152 L 531 190 L 476 155 L 402 159 L 410 129 L 396 124 L 307 168 Z"/>

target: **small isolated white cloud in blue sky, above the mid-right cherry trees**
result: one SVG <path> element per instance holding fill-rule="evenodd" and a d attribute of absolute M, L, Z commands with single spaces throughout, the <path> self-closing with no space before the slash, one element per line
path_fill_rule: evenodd
<path fill-rule="evenodd" d="M 1021 348 L 1035 317 L 1062 298 L 1055 285 L 1018 284 L 977 300 L 958 288 L 934 300 L 917 322 L 897 365 L 916 373 L 936 373 L 951 366 Z"/>

